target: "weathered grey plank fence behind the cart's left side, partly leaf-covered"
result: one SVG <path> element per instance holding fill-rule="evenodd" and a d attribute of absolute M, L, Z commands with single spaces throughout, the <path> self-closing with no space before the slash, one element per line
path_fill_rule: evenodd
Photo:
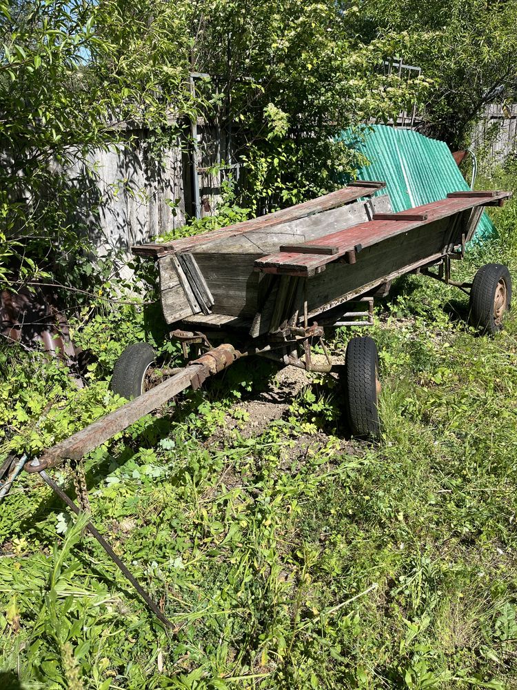
<path fill-rule="evenodd" d="M 202 121 L 194 130 L 195 145 L 192 133 L 185 128 L 159 159 L 152 149 L 153 132 L 130 129 L 127 146 L 92 150 L 87 161 L 68 168 L 79 192 L 77 227 L 86 228 L 101 253 L 127 251 L 180 228 L 187 217 L 214 213 L 227 172 L 213 166 L 227 150 L 225 135 Z"/>

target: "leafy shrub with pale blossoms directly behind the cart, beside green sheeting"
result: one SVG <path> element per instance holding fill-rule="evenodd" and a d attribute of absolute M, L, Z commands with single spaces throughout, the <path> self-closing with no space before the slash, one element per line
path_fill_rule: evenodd
<path fill-rule="evenodd" d="M 363 41 L 356 7 L 297 0 L 194 4 L 193 64 L 218 88 L 222 119 L 245 169 L 245 205 L 255 211 L 331 190 L 338 173 L 355 168 L 337 132 L 423 99 L 425 79 L 408 84 L 382 70 L 409 37 Z"/>

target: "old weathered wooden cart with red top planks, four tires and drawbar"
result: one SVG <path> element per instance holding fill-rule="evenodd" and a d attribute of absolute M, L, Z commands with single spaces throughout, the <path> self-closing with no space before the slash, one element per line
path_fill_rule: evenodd
<path fill-rule="evenodd" d="M 112 387 L 132 400 L 48 449 L 26 470 L 79 460 L 239 357 L 260 355 L 307 371 L 331 371 L 335 364 L 324 328 L 371 325 L 375 295 L 385 295 L 405 273 L 423 273 L 468 292 L 474 325 L 498 331 L 511 299 L 507 267 L 488 264 L 463 283 L 451 279 L 450 267 L 452 259 L 463 258 L 484 208 L 502 205 L 511 193 L 455 192 L 392 213 L 387 195 L 372 197 L 383 186 L 357 182 L 221 230 L 134 247 L 135 254 L 159 264 L 163 315 L 190 362 L 148 390 L 154 353 L 146 344 L 131 345 L 116 363 Z M 323 344 L 325 357 L 314 357 L 314 342 Z M 203 354 L 190 358 L 192 352 Z M 375 437 L 379 382 L 371 338 L 351 339 L 340 375 L 352 433 Z"/>

